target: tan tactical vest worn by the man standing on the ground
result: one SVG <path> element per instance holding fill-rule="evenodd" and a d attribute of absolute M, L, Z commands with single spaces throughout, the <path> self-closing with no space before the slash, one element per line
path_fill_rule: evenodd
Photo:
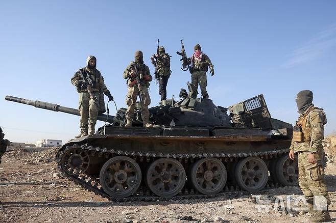
<path fill-rule="evenodd" d="M 311 124 L 307 125 L 310 111 L 319 109 L 323 114 L 323 124 L 326 124 L 326 115 L 322 108 L 310 107 L 304 114 L 300 115 L 299 120 L 293 127 L 293 141 L 297 143 L 310 142 L 311 140 Z"/>

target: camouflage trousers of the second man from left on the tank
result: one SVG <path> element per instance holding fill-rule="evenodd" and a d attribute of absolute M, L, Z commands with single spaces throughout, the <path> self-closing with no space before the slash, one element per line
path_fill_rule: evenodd
<path fill-rule="evenodd" d="M 141 91 L 141 118 L 143 123 L 148 123 L 149 120 L 149 110 L 148 105 L 151 103 L 151 98 L 148 93 L 148 88 L 142 86 Z M 139 88 L 137 85 L 133 87 L 128 87 L 127 95 L 126 95 L 126 104 L 128 105 L 126 111 L 126 120 L 133 120 L 134 109 L 136 107 L 136 99 L 139 96 Z"/>

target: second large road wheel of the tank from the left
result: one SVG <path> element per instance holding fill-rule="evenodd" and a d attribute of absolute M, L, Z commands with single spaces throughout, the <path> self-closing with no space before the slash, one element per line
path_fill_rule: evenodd
<path fill-rule="evenodd" d="M 152 162 L 147 170 L 147 185 L 159 197 L 170 198 L 178 194 L 185 183 L 182 164 L 172 158 Z"/>

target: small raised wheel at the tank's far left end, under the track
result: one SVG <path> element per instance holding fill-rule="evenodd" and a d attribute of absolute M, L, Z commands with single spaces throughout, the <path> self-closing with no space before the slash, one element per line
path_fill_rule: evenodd
<path fill-rule="evenodd" d="M 81 148 L 72 148 L 65 151 L 61 159 L 62 169 L 72 176 L 84 173 L 88 169 L 89 163 L 89 155 Z"/>

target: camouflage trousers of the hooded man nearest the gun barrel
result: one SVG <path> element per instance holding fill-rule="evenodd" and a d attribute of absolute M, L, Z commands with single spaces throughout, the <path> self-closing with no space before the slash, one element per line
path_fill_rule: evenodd
<path fill-rule="evenodd" d="M 92 96 L 88 92 L 79 93 L 79 112 L 81 114 L 80 128 L 82 135 L 84 133 L 94 134 L 94 126 L 97 122 L 99 110 L 99 92 L 92 92 Z"/>

